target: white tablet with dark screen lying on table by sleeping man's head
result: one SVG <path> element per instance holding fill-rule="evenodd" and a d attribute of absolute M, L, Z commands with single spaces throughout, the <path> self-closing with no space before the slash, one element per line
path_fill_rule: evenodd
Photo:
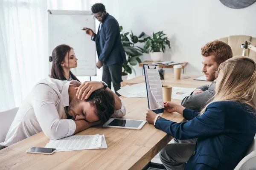
<path fill-rule="evenodd" d="M 145 120 L 132 120 L 132 119 L 116 119 L 111 118 L 106 122 L 103 127 L 116 127 L 124 129 L 137 129 L 140 130 L 144 125 Z"/>

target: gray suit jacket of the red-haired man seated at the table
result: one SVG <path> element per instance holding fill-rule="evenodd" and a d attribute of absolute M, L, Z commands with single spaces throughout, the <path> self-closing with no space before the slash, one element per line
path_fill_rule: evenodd
<path fill-rule="evenodd" d="M 198 87 L 197 89 L 201 89 L 203 92 L 195 95 L 192 95 L 192 92 L 190 96 L 186 96 L 182 100 L 181 105 L 185 108 L 200 112 L 208 103 L 209 99 L 211 99 L 215 94 L 215 85 L 216 82 L 214 81 L 211 85 L 203 85 Z"/>

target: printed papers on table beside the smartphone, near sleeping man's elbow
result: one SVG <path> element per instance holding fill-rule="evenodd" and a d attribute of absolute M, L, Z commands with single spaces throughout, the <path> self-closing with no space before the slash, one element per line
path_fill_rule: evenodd
<path fill-rule="evenodd" d="M 45 147 L 55 148 L 55 152 L 108 148 L 104 135 L 75 135 L 58 140 L 50 139 Z"/>

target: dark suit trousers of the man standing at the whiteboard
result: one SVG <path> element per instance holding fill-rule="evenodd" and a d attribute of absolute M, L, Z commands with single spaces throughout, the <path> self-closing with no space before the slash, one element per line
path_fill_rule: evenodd
<path fill-rule="evenodd" d="M 122 63 L 113 65 L 103 64 L 102 81 L 107 83 L 110 89 L 112 82 L 116 95 L 120 96 L 116 91 L 118 91 L 121 87 L 120 83 L 122 82 Z"/>

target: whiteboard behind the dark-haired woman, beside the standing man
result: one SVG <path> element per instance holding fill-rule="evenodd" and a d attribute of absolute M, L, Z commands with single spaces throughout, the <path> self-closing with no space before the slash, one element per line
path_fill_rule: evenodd
<path fill-rule="evenodd" d="M 73 47 L 78 66 L 72 69 L 75 76 L 96 76 L 96 45 L 81 28 L 95 32 L 91 11 L 48 10 L 49 56 L 61 44 Z M 49 75 L 52 62 L 49 62 Z"/>

